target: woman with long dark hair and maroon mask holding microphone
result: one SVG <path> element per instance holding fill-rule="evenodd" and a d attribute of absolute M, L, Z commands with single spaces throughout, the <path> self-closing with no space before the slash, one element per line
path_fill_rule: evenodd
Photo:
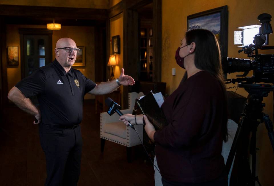
<path fill-rule="evenodd" d="M 186 32 L 176 50 L 186 69 L 178 88 L 161 106 L 169 124 L 155 131 L 146 116 L 121 116 L 142 124 L 151 140 L 163 185 L 227 185 L 222 142 L 227 141 L 227 97 L 220 47 L 210 31 Z"/>

